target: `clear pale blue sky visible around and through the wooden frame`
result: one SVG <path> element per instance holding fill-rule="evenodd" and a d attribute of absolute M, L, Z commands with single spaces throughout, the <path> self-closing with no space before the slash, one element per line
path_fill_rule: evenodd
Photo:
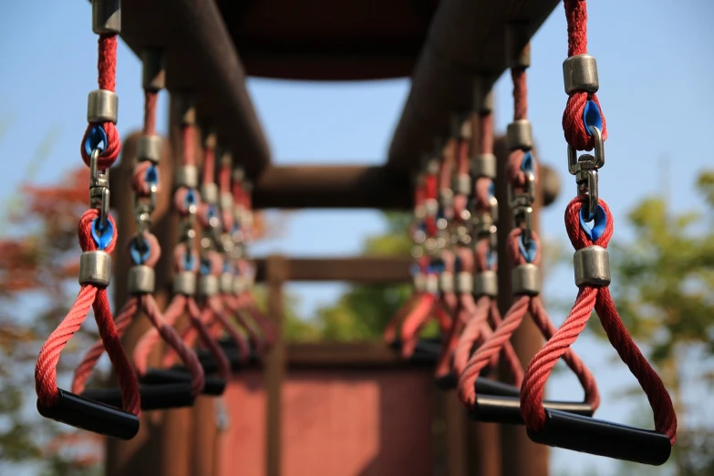
<path fill-rule="evenodd" d="M 11 199 L 20 181 L 57 181 L 81 163 L 79 141 L 86 127 L 88 91 L 96 88 L 96 36 L 87 2 L 25 0 L 0 8 L 0 196 Z M 601 100 L 609 138 L 600 174 L 600 196 L 616 217 L 616 236 L 631 238 L 625 213 L 644 195 L 667 193 L 674 207 L 692 209 L 697 172 L 714 167 L 709 140 L 714 109 L 711 58 L 714 4 L 709 0 L 598 0 L 589 5 L 589 52 L 598 60 Z M 566 26 L 560 5 L 533 38 L 528 73 L 529 114 L 539 159 L 560 173 L 560 199 L 542 214 L 543 234 L 565 239 L 563 211 L 574 193 L 566 169 L 561 116 L 565 104 L 561 64 Z M 119 131 L 141 125 L 140 62 L 119 48 Z M 381 163 L 409 92 L 409 79 L 362 83 L 307 83 L 250 79 L 248 87 L 271 143 L 274 162 Z M 504 130 L 512 114 L 511 85 L 496 88 L 496 119 Z M 166 97 L 161 98 L 166 105 Z M 166 129 L 165 108 L 160 130 Z M 56 139 L 35 161 L 40 142 Z M 30 163 L 36 168 L 28 175 Z M 373 211 L 295 212 L 279 239 L 261 243 L 255 254 L 357 254 L 365 237 L 384 224 Z M 574 297 L 569 270 L 551 276 L 548 295 Z M 615 284 L 616 285 L 616 284 Z M 340 285 L 291 285 L 309 315 L 338 295 Z M 561 314 L 552 316 L 556 323 Z M 616 388 L 635 383 L 626 369 L 612 366 L 614 351 L 599 343 L 576 350 L 595 371 L 605 394 L 598 416 L 623 420 L 640 400 L 622 401 Z M 624 367 L 624 366 L 623 366 Z M 578 397 L 574 378 L 554 378 L 551 394 Z M 694 396 L 693 396 L 694 398 Z M 714 412 L 705 412 L 709 420 Z M 699 415 L 702 418 L 702 415 Z M 686 420 L 685 420 L 686 423 Z M 610 474 L 612 461 L 554 450 L 554 468 L 597 468 Z"/>

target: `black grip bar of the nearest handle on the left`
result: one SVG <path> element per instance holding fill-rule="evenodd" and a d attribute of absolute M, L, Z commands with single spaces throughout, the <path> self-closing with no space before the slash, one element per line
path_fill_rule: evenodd
<path fill-rule="evenodd" d="M 97 400 L 59 389 L 57 405 L 47 409 L 37 400 L 37 411 L 46 419 L 54 419 L 78 429 L 86 429 L 119 440 L 131 440 L 139 432 L 139 419 L 136 415 L 121 409 L 120 395 L 119 405 L 111 407 Z"/>

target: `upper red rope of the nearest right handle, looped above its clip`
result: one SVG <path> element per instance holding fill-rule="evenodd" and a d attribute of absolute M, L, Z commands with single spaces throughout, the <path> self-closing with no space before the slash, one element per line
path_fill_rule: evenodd
<path fill-rule="evenodd" d="M 587 4 L 585 0 L 565 0 L 565 18 L 568 22 L 568 56 L 585 55 L 587 53 Z M 588 135 L 583 123 L 583 112 L 585 104 L 592 100 L 600 109 L 600 116 L 603 119 L 603 140 L 607 139 L 607 128 L 605 125 L 605 114 L 600 107 L 600 101 L 595 94 L 585 91 L 577 91 L 568 98 L 565 111 L 563 113 L 563 130 L 565 140 L 575 150 L 593 150 L 595 140 Z"/>

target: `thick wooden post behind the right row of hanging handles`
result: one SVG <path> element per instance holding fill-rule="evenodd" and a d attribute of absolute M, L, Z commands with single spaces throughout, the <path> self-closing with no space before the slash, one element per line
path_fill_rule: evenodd
<path fill-rule="evenodd" d="M 508 203 L 506 166 L 508 162 L 508 147 L 504 138 L 496 140 L 494 151 L 499 163 L 498 179 L 496 180 L 496 198 L 499 202 L 499 307 L 505 313 L 512 304 L 511 270 L 513 264 L 506 251 L 505 237 L 512 229 L 512 212 Z M 535 191 L 533 205 L 533 228 L 538 231 L 538 212 L 543 194 L 540 181 Z M 513 333 L 511 339 L 513 348 L 526 367 L 533 355 L 541 348 L 543 337 L 529 316 L 523 319 L 523 324 Z M 533 443 L 525 433 L 525 427 L 518 425 L 502 425 L 502 476 L 543 476 L 548 474 L 548 447 Z"/>

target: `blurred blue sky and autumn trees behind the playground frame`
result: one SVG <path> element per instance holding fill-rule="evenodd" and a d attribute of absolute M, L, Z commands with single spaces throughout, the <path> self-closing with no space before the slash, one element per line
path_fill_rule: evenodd
<path fill-rule="evenodd" d="M 714 3 L 710 0 L 599 0 L 588 5 L 589 52 L 609 137 L 600 196 L 616 218 L 612 286 L 626 325 L 664 378 L 678 409 L 678 445 L 663 468 L 552 450 L 558 476 L 714 475 Z M 86 170 L 78 146 L 88 91 L 96 87 L 96 37 L 79 1 L 26 0 L 0 6 L 0 474 L 100 474 L 102 445 L 73 440 L 35 410 L 36 352 L 76 293 L 76 220 L 85 205 Z M 544 295 L 555 324 L 576 287 L 565 204 L 561 117 L 566 53 L 562 5 L 533 37 L 528 71 L 530 119 L 539 159 L 558 171 L 557 202 L 543 209 L 548 243 Z M 119 132 L 140 129 L 140 60 L 119 45 Z M 409 79 L 309 83 L 249 79 L 276 164 L 384 162 L 409 93 Z M 496 87 L 497 131 L 512 107 L 511 82 Z M 159 132 L 168 128 L 160 98 Z M 254 255 L 408 254 L 409 216 L 375 211 L 266 212 Z M 288 285 L 288 332 L 295 340 L 378 339 L 409 285 Z M 376 316 L 365 319 L 364 316 Z M 603 393 L 598 417 L 651 428 L 647 399 L 591 321 L 576 352 Z M 95 331 L 63 354 L 77 363 Z M 105 363 L 106 364 L 106 363 Z M 105 368 L 108 366 L 105 365 Z M 568 372 L 551 394 L 579 398 Z"/>

